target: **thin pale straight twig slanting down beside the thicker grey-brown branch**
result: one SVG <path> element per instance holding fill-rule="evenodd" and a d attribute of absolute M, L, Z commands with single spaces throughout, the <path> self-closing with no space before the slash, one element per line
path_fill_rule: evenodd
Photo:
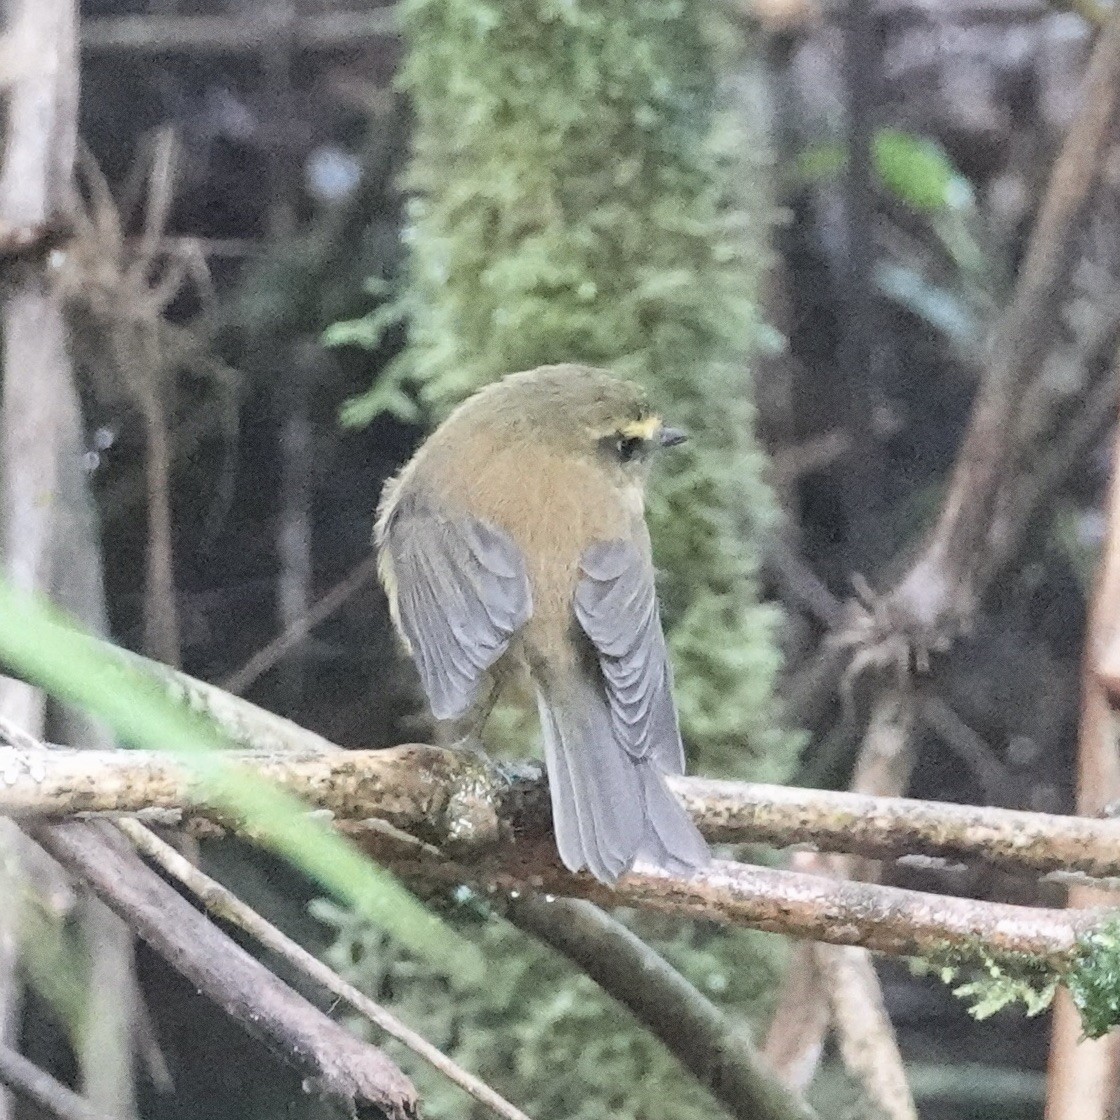
<path fill-rule="evenodd" d="M 194 864 L 185 859 L 169 843 L 160 840 L 149 829 L 146 829 L 138 821 L 130 820 L 118 822 L 118 827 L 132 841 L 133 847 L 141 855 L 147 856 L 148 859 L 158 864 L 168 875 L 181 883 L 214 917 L 237 925 L 251 934 L 265 949 L 281 956 L 292 968 L 310 977 L 310 979 L 334 996 L 345 1000 L 360 1015 L 364 1015 L 371 1023 L 384 1030 L 385 1034 L 403 1043 L 414 1054 L 428 1062 L 448 1080 L 454 1081 L 464 1092 L 469 1093 L 476 1101 L 491 1109 L 496 1116 L 504 1117 L 505 1120 L 529 1120 L 529 1117 L 521 1109 L 511 1104 L 485 1082 L 457 1065 L 446 1054 L 441 1053 L 424 1037 L 401 1023 L 396 1016 L 385 1010 L 380 1004 L 374 1002 L 368 996 L 365 996 L 353 984 L 343 980 L 337 972 L 281 933 L 274 925 L 267 922 L 231 890 L 200 871 Z"/>

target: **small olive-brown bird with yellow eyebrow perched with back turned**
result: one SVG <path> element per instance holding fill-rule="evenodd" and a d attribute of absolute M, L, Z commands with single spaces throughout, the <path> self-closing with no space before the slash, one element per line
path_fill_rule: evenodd
<path fill-rule="evenodd" d="M 385 485 L 393 620 L 439 720 L 474 732 L 525 669 L 564 865 L 690 874 L 708 847 L 684 773 L 645 524 L 652 455 L 684 433 L 601 370 L 516 373 L 460 404 Z"/>

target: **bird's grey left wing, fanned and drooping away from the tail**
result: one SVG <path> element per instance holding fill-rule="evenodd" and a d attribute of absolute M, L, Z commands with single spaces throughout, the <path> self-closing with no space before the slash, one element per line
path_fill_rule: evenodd
<path fill-rule="evenodd" d="M 432 715 L 456 719 L 533 613 L 521 551 L 501 529 L 416 493 L 401 495 L 377 543 Z"/>

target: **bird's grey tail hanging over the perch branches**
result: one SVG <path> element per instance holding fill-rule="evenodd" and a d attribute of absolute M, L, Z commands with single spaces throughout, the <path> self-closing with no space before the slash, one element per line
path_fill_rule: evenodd
<path fill-rule="evenodd" d="M 648 752 L 616 740 L 599 682 L 587 675 L 538 691 L 557 848 L 572 871 L 614 883 L 635 860 L 690 875 L 711 859 L 707 843 Z"/>

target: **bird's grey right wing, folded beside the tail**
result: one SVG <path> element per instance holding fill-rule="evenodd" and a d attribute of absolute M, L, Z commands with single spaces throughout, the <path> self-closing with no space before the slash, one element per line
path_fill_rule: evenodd
<path fill-rule="evenodd" d="M 653 567 L 632 541 L 599 541 L 580 559 L 576 618 L 591 640 L 610 701 L 615 738 L 634 758 L 684 773 L 673 675 Z"/>

